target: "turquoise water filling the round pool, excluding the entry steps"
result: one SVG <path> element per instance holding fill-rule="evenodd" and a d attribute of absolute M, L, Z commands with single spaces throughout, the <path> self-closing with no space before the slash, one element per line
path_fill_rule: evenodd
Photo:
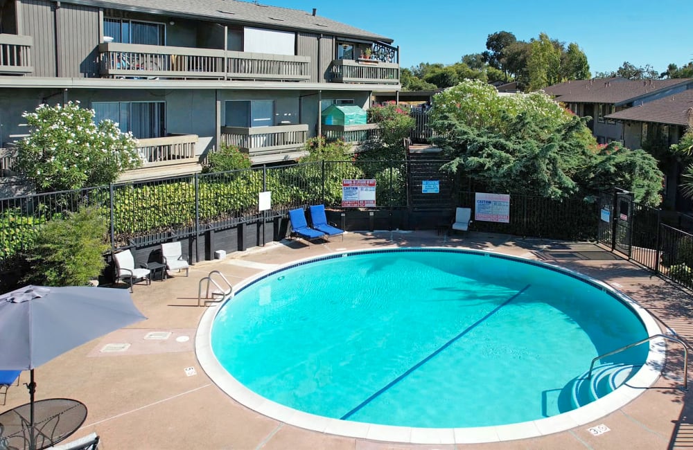
<path fill-rule="evenodd" d="M 541 264 L 469 251 L 346 253 L 256 280 L 211 346 L 240 383 L 291 408 L 454 428 L 550 417 L 593 357 L 647 337 L 607 291 Z M 606 359 L 642 364 L 647 345 Z"/>

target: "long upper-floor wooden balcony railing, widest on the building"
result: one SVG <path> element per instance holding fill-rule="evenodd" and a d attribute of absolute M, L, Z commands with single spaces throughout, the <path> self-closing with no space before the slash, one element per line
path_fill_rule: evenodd
<path fill-rule="evenodd" d="M 114 78 L 310 80 L 310 57 L 104 42 L 101 75 Z"/>

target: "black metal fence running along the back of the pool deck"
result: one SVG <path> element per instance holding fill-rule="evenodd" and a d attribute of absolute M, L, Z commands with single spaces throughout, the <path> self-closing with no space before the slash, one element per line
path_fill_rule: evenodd
<path fill-rule="evenodd" d="M 424 162 L 437 168 L 444 163 Z M 454 206 L 474 209 L 475 192 L 463 190 L 461 186 L 466 183 L 455 177 L 446 181 L 451 188 L 441 188 L 428 197 L 430 201 L 422 202 L 420 174 L 412 173 L 420 165 L 421 161 L 323 161 L 0 199 L 0 270 L 11 267 L 29 248 L 42 224 L 83 206 L 103 208 L 109 215 L 109 241 L 114 250 L 196 240 L 209 232 L 259 226 L 286 218 L 292 208 L 310 204 L 324 204 L 351 215 L 354 219 L 347 224 L 347 228 L 351 226 L 348 229 L 364 229 L 359 227 L 368 223 L 372 226 L 372 218 L 368 222 L 359 217 L 358 210 L 342 208 L 343 179 L 376 179 L 378 206 L 368 210 L 376 213 L 379 226 L 434 228 L 452 218 Z M 449 176 L 441 173 L 439 178 Z M 258 210 L 258 195 L 263 191 L 272 192 L 270 210 Z M 395 216 L 398 222 L 394 222 Z M 473 222 L 471 230 L 597 240 L 693 288 L 693 235 L 685 231 L 686 227 L 692 231 L 691 217 L 636 204 L 623 193 L 604 194 L 594 201 L 511 194 L 508 223 Z M 274 238 L 283 235 L 274 231 Z"/>

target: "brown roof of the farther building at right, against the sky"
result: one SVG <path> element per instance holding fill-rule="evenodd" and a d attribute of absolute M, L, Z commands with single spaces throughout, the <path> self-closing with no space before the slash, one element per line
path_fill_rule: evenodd
<path fill-rule="evenodd" d="M 574 103 L 623 103 L 626 100 L 641 97 L 687 84 L 690 78 L 672 78 L 669 80 L 626 80 L 625 78 L 593 78 L 592 80 L 574 80 L 554 84 L 544 88 L 544 92 L 554 96 L 559 102 Z"/>

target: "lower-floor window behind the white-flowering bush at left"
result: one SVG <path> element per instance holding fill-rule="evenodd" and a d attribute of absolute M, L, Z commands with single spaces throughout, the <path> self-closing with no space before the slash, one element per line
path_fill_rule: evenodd
<path fill-rule="evenodd" d="M 110 119 L 138 139 L 166 136 L 164 102 L 92 102 L 94 121 Z"/>

